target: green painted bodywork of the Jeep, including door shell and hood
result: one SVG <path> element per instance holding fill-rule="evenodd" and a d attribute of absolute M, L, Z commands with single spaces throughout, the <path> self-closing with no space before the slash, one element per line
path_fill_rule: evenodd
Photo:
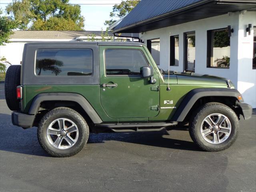
<path fill-rule="evenodd" d="M 141 75 L 106 75 L 105 50 L 140 50 L 154 70 L 155 84 Z M 146 46 L 99 46 L 100 84 L 23 85 L 23 112 L 28 113 L 40 93 L 68 92 L 82 95 L 103 122 L 169 122 L 186 94 L 195 88 L 226 88 L 226 79 L 194 73 L 161 72 Z M 167 91 L 168 81 L 171 90 Z M 116 86 L 103 86 L 116 84 Z M 234 85 L 232 84 L 232 88 Z"/>

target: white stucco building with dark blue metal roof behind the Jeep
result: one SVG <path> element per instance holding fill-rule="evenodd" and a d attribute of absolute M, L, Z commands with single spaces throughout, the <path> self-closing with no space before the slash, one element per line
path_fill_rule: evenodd
<path fill-rule="evenodd" d="M 255 0 L 142 0 L 114 32 L 139 32 L 159 68 L 232 80 L 256 108 Z"/>

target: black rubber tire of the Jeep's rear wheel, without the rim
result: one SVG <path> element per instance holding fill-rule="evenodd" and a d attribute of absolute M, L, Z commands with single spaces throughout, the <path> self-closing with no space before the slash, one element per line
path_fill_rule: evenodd
<path fill-rule="evenodd" d="M 74 146 L 68 149 L 54 148 L 54 146 L 47 140 L 47 128 L 52 121 L 58 118 L 68 118 L 72 120 L 78 128 L 78 140 Z M 40 120 L 37 136 L 41 147 L 51 156 L 70 157 L 80 152 L 86 145 L 89 137 L 89 127 L 84 118 L 75 110 L 67 107 L 58 107 L 45 114 Z"/>

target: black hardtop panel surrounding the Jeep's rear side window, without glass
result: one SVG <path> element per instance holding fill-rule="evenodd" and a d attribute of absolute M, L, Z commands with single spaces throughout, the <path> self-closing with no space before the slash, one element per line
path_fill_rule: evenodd
<path fill-rule="evenodd" d="M 35 52 L 37 49 L 47 48 L 67 48 L 79 49 L 88 48 L 92 50 L 93 54 L 93 75 L 92 76 L 35 76 Z M 100 84 L 100 58 L 99 46 L 96 42 L 31 42 L 24 45 L 21 82 L 26 85 L 95 85 Z M 71 77 L 71 78 L 70 78 Z"/>

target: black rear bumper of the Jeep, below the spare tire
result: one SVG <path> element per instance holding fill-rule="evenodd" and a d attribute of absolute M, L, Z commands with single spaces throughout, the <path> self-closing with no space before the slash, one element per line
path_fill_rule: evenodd
<path fill-rule="evenodd" d="M 12 112 L 12 124 L 23 128 L 30 128 L 33 126 L 35 120 L 34 115 L 24 114 L 18 111 Z"/>

